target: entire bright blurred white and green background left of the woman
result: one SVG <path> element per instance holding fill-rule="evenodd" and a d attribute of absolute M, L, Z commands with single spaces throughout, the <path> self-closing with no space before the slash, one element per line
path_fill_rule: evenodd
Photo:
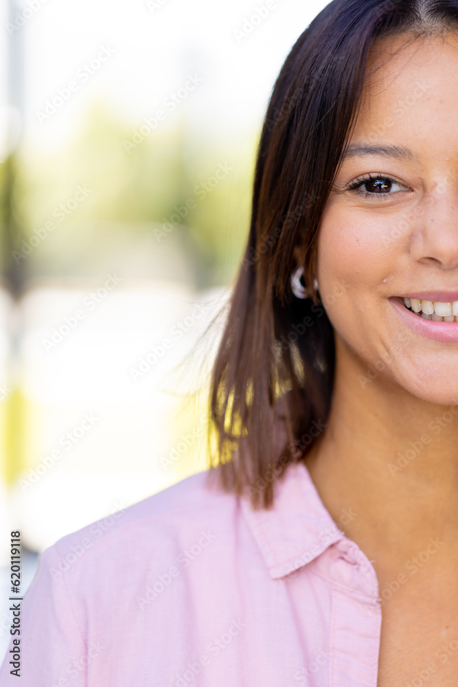
<path fill-rule="evenodd" d="M 275 78 L 325 4 L 0 0 L 0 658 L 11 530 L 25 593 L 64 534 L 206 468 L 223 319 L 185 357 L 244 252 Z"/>

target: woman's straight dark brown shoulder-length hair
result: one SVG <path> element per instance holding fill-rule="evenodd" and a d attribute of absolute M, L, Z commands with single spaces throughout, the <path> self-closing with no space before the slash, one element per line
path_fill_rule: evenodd
<path fill-rule="evenodd" d="M 249 490 L 253 508 L 272 506 L 275 481 L 308 453 L 330 411 L 334 332 L 313 286 L 317 234 L 358 115 L 369 51 L 379 38 L 408 32 L 407 42 L 457 23 L 458 0 L 334 0 L 299 36 L 275 82 L 209 394 L 209 476 L 225 491 Z M 290 285 L 296 246 L 304 300 Z"/>

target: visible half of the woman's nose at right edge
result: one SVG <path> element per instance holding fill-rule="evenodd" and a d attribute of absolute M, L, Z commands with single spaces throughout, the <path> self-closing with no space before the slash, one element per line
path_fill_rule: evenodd
<path fill-rule="evenodd" d="M 410 236 L 411 256 L 444 271 L 458 270 L 457 183 L 437 185 L 422 203 L 424 207 Z"/>

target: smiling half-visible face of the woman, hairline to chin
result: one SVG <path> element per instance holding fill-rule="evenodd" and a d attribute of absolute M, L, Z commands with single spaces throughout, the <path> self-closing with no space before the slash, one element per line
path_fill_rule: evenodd
<path fill-rule="evenodd" d="M 317 279 L 338 356 L 447 405 L 458 397 L 458 34 L 388 60 L 403 43 L 385 39 L 371 56 L 384 66 L 325 207 Z M 455 311 L 456 323 L 434 319 Z"/>

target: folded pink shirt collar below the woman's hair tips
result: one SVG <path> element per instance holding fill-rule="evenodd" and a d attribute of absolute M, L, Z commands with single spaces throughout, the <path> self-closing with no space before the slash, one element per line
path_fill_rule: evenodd
<path fill-rule="evenodd" d="M 240 503 L 274 579 L 307 565 L 345 537 L 302 462 L 288 465 L 275 483 L 273 508 L 253 510 L 249 495 L 241 497 Z"/>

